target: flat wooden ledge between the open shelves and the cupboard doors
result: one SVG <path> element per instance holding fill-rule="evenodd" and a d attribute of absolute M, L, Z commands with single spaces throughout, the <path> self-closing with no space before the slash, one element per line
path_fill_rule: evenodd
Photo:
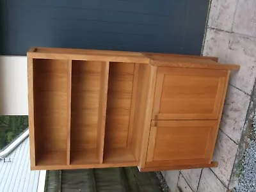
<path fill-rule="evenodd" d="M 152 115 L 153 96 L 156 86 L 156 67 L 140 63 L 138 72 L 138 91 L 134 113 L 132 150 L 136 160 L 145 164 L 147 144 Z M 144 163 L 143 163 L 144 162 Z"/>

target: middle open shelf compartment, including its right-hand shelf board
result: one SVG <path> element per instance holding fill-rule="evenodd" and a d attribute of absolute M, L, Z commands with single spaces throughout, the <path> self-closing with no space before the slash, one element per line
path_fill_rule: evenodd
<path fill-rule="evenodd" d="M 108 62 L 72 61 L 70 164 L 103 159 Z"/>

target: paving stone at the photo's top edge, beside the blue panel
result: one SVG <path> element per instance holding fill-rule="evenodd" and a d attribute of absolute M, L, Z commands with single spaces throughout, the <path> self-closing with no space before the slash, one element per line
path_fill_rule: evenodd
<path fill-rule="evenodd" d="M 212 0 L 208 27 L 231 31 L 237 0 Z"/>

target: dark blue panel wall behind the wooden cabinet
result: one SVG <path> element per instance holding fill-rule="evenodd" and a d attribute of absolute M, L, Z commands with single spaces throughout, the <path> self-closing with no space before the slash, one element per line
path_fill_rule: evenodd
<path fill-rule="evenodd" d="M 29 47 L 200 54 L 209 0 L 0 0 L 0 54 Z"/>

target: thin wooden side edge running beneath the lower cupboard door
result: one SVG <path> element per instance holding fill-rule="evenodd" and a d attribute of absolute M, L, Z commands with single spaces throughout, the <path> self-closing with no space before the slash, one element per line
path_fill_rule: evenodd
<path fill-rule="evenodd" d="M 218 162 L 212 161 L 209 164 L 190 164 L 190 165 L 177 165 L 177 166 L 163 166 L 163 167 L 152 167 L 152 168 L 141 168 L 138 167 L 140 172 L 154 172 L 154 171 L 165 171 L 165 170 L 184 170 L 184 169 L 196 169 L 196 168 L 211 168 L 217 167 Z"/>

